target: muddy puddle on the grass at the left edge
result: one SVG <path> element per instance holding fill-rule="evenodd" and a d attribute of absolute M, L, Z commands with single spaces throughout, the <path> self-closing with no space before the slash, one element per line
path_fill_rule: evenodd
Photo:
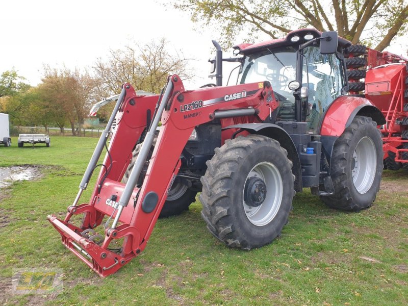
<path fill-rule="evenodd" d="M 10 186 L 16 181 L 29 181 L 39 176 L 41 172 L 38 166 L 0 167 L 0 188 Z"/>

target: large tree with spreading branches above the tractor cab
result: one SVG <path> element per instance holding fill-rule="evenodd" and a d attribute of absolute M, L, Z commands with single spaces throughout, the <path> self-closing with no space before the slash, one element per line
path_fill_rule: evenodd
<path fill-rule="evenodd" d="M 175 7 L 195 22 L 221 23 L 224 43 L 239 33 L 276 39 L 291 30 L 313 27 L 338 31 L 353 44 L 376 45 L 382 51 L 392 39 L 407 33 L 407 0 L 181 0 Z"/>

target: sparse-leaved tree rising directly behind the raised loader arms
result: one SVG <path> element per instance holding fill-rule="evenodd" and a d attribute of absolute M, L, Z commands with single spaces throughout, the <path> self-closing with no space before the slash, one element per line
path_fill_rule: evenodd
<path fill-rule="evenodd" d="M 159 93 L 172 73 L 179 74 L 183 80 L 190 79 L 188 59 L 178 53 L 170 54 L 167 45 L 167 41 L 161 39 L 143 47 L 126 46 L 111 50 L 107 61 L 98 59 L 93 69 L 99 80 L 99 96 L 119 93 L 124 82 L 131 83 L 137 90 Z"/>

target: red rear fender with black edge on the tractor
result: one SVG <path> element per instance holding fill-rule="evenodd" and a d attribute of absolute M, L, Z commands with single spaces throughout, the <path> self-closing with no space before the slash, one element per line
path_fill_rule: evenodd
<path fill-rule="evenodd" d="M 356 96 L 340 96 L 323 114 L 320 126 L 322 136 L 340 136 L 355 116 L 370 117 L 377 125 L 385 124 L 381 111 L 370 100 Z"/>

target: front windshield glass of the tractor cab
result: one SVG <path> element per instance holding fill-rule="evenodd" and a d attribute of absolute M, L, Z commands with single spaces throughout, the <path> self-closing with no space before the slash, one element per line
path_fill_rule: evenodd
<path fill-rule="evenodd" d="M 245 57 L 240 84 L 268 80 L 278 100 L 294 104 L 295 97 L 288 84 L 296 80 L 296 59 L 296 50 L 291 46 L 250 54 Z"/>

